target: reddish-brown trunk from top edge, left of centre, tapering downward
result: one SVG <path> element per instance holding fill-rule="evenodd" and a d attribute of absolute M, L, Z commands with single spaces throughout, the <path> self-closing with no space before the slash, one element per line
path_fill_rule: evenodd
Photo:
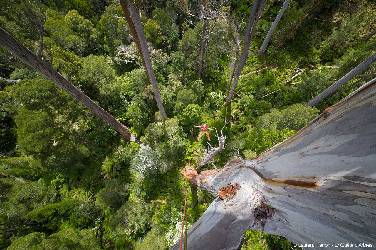
<path fill-rule="evenodd" d="M 145 65 L 147 76 L 152 83 L 159 112 L 161 113 L 162 119 L 165 121 L 167 119 L 167 115 L 163 108 L 161 94 L 159 93 L 157 79 L 155 78 L 152 60 L 150 59 L 149 48 L 147 47 L 146 36 L 143 26 L 141 25 L 141 18 L 138 15 L 138 10 L 135 8 L 135 6 L 133 6 L 132 0 L 128 0 L 127 4 L 124 0 L 120 0 L 120 4 L 129 25 L 130 32 L 132 33 L 133 39 L 137 45 L 141 59 Z"/>

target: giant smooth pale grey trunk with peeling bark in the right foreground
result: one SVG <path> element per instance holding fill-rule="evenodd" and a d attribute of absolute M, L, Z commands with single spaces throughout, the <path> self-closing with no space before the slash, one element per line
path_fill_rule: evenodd
<path fill-rule="evenodd" d="M 376 83 L 368 82 L 258 157 L 193 176 L 218 197 L 188 231 L 187 249 L 240 249 L 248 229 L 314 243 L 304 249 L 374 246 L 375 103 Z"/>

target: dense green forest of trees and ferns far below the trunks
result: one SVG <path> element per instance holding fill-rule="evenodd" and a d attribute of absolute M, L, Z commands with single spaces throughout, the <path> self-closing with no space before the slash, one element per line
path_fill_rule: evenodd
<path fill-rule="evenodd" d="M 372 0 L 304 21 L 316 0 L 280 20 L 283 0 L 132 3 L 139 26 L 117 0 L 0 0 L 0 27 L 136 137 L 0 47 L 1 249 L 169 249 L 215 198 L 188 170 L 256 157 L 376 76 L 305 107 L 376 52 Z M 289 247 L 248 230 L 241 249 Z"/>

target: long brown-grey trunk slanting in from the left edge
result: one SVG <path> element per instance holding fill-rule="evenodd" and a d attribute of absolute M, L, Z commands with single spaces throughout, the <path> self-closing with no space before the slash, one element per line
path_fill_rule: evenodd
<path fill-rule="evenodd" d="M 32 53 L 28 48 L 18 42 L 11 34 L 2 28 L 0 28 L 0 45 L 30 67 L 36 71 L 39 71 L 48 80 L 53 81 L 56 85 L 73 96 L 74 99 L 102 118 L 105 122 L 111 125 L 111 127 L 118 131 L 124 140 L 131 140 L 131 133 L 127 127 L 121 124 L 115 117 L 92 101 L 81 90 L 77 89 L 73 84 L 59 74 L 59 72 L 36 56 L 36 54 Z"/>

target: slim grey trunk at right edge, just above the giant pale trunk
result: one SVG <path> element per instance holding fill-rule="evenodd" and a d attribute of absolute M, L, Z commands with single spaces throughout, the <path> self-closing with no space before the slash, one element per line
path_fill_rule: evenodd
<path fill-rule="evenodd" d="M 374 53 L 372 56 L 365 59 L 361 64 L 359 64 L 358 66 L 353 68 L 349 73 L 344 75 L 340 80 L 333 83 L 330 87 L 328 87 L 326 90 L 321 92 L 318 96 L 316 96 L 311 101 L 309 101 L 304 107 L 313 107 L 319 101 L 323 100 L 326 96 L 330 95 L 335 90 L 337 90 L 339 87 L 346 84 L 349 80 L 354 78 L 356 75 L 358 75 L 364 69 L 368 68 L 368 66 L 370 66 L 374 62 L 376 62 L 376 53 Z"/>

